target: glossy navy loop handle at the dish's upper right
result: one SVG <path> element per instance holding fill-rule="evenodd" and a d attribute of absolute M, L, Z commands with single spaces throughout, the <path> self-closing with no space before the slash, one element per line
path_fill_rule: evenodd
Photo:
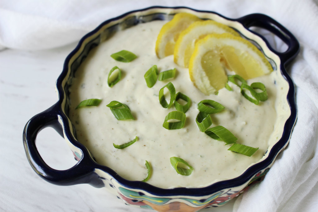
<path fill-rule="evenodd" d="M 282 64 L 287 65 L 298 54 L 299 43 L 297 39 L 290 31 L 288 31 L 284 26 L 275 21 L 273 18 L 266 16 L 264 14 L 254 13 L 241 17 L 237 19 L 237 21 L 243 24 L 244 27 L 249 31 L 252 31 L 251 29 L 249 29 L 252 26 L 260 27 L 272 32 L 274 35 L 278 36 L 283 42 L 285 42 L 285 44 L 287 44 L 288 46 L 287 50 L 285 52 L 278 52 L 270 46 L 268 41 L 263 36 L 252 31 L 253 33 L 263 38 L 267 46 L 269 46 L 270 49 L 280 57 Z"/>

